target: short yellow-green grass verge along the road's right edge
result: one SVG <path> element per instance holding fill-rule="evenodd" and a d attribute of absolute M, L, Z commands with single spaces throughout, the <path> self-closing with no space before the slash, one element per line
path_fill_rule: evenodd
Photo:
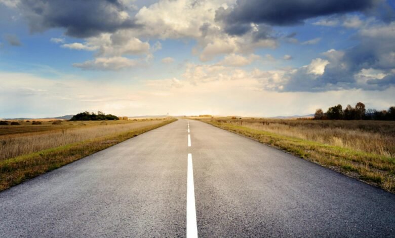
<path fill-rule="evenodd" d="M 200 121 L 283 149 L 305 160 L 395 193 L 395 158 L 228 123 Z"/>

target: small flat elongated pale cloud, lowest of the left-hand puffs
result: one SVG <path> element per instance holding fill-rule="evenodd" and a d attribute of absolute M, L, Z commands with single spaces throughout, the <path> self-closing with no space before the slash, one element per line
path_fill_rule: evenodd
<path fill-rule="evenodd" d="M 74 63 L 73 66 L 86 70 L 120 70 L 141 65 L 138 60 L 128 59 L 125 57 L 99 57 L 95 60 L 89 60 L 84 63 Z"/>

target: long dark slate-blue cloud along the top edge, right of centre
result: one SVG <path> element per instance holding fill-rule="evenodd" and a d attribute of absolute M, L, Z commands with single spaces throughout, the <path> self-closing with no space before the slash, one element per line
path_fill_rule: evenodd
<path fill-rule="evenodd" d="M 223 21 L 228 28 L 235 25 L 266 23 L 269 25 L 295 25 L 303 20 L 332 14 L 368 11 L 381 0 L 238 0 L 233 8 L 220 8 L 216 20 Z M 243 33 L 243 31 L 240 31 Z"/>

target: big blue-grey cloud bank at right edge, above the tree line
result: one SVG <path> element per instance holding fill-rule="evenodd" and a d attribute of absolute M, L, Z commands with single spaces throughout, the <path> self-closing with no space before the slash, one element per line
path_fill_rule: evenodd
<path fill-rule="evenodd" d="M 329 50 L 311 67 L 290 72 L 284 90 L 385 90 L 395 85 L 395 22 L 365 27 L 355 38 L 357 46 Z"/>

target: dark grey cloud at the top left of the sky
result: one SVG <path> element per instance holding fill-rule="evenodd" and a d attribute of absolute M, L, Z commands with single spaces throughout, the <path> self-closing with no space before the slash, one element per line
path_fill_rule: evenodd
<path fill-rule="evenodd" d="M 67 35 L 89 37 L 137 27 L 121 14 L 128 9 L 119 0 L 21 0 L 18 8 L 32 32 L 60 27 Z"/>

